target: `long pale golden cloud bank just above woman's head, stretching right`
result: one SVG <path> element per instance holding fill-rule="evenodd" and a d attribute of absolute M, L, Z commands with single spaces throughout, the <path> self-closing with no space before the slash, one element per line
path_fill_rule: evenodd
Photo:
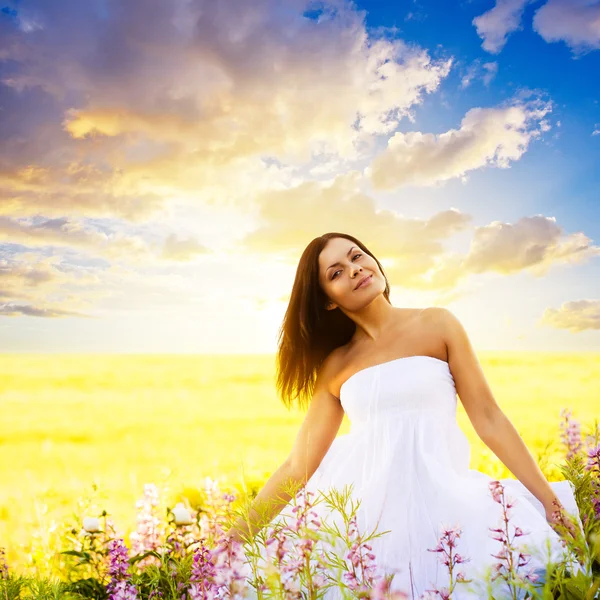
<path fill-rule="evenodd" d="M 461 282 L 482 273 L 529 271 L 539 277 L 553 265 L 600 256 L 600 246 L 583 233 L 565 234 L 555 218 L 541 215 L 476 227 L 466 254 L 450 252 L 446 242 L 471 229 L 470 215 L 452 208 L 429 218 L 408 218 L 377 210 L 373 199 L 359 191 L 359 183 L 354 173 L 261 195 L 260 226 L 240 244 L 294 262 L 311 237 L 326 231 L 351 233 L 389 260 L 386 273 L 392 285 L 444 293 L 456 292 Z"/>

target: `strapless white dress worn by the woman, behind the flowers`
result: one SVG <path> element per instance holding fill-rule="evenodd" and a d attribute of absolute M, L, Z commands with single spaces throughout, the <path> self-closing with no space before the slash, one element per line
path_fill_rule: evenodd
<path fill-rule="evenodd" d="M 370 545 L 379 569 L 395 573 L 392 590 L 417 599 L 432 585 L 447 586 L 448 570 L 439 553 L 428 552 L 436 547 L 442 525 L 462 528 L 455 552 L 470 561 L 457 565 L 455 572 L 477 578 L 498 562 L 491 554 L 500 551 L 501 543 L 489 528 L 498 527 L 502 508 L 488 487 L 493 478 L 469 469 L 470 448 L 456 420 L 456 388 L 448 363 L 417 355 L 366 367 L 342 384 L 340 401 L 351 429 L 335 438 L 306 490 L 318 493 L 353 484 L 352 495 L 361 501 L 359 531 L 390 530 Z M 532 555 L 521 572 L 543 569 L 546 540 L 551 558 L 564 556 L 541 503 L 520 481 L 500 481 L 506 495 L 516 500 L 510 522 L 529 532 L 516 540 Z M 570 482 L 550 485 L 578 520 Z M 291 503 L 272 524 L 282 518 L 290 522 L 290 509 Z M 322 519 L 332 516 L 324 503 L 315 510 Z M 474 589 L 458 584 L 452 597 L 484 597 Z M 340 596 L 331 589 L 326 597 Z"/>

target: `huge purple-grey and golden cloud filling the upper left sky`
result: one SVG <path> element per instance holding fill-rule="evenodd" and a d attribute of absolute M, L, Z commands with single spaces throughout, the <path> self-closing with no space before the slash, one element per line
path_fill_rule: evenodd
<path fill-rule="evenodd" d="M 449 72 L 449 59 L 369 36 L 350 2 L 318 19 L 307 6 L 20 6 L 0 23 L 3 214 L 141 221 L 174 198 L 248 202 L 278 175 L 264 156 L 356 159 Z"/>

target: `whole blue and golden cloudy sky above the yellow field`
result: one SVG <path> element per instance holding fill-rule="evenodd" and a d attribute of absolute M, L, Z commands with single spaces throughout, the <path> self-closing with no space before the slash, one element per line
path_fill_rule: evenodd
<path fill-rule="evenodd" d="M 600 351 L 600 2 L 0 0 L 0 352 L 276 351 L 303 249 Z"/>

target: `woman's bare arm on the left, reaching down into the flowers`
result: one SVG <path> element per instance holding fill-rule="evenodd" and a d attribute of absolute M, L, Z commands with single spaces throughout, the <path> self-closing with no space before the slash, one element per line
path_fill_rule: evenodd
<path fill-rule="evenodd" d="M 290 454 L 257 494 L 248 511 L 248 520 L 238 518 L 227 536 L 238 542 L 253 538 L 268 525 L 292 499 L 293 491 L 313 476 L 329 450 L 342 424 L 344 409 L 329 392 L 329 382 L 337 372 L 335 351 L 319 370 L 308 411 Z"/>

